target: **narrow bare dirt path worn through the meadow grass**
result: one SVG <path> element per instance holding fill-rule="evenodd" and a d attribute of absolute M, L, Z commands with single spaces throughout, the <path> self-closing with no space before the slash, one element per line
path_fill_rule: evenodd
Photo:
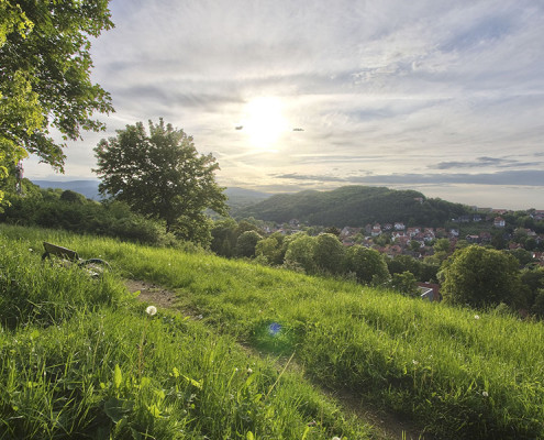
<path fill-rule="evenodd" d="M 176 293 L 156 284 L 136 279 L 127 279 L 125 285 L 131 293 L 140 290 L 137 299 L 143 302 L 149 302 L 159 308 L 174 308 L 176 305 Z M 244 345 L 244 349 L 252 351 L 255 355 L 259 355 L 259 353 L 252 348 Z M 291 366 L 297 367 L 292 362 Z M 320 389 L 322 393 L 334 398 L 346 413 L 354 414 L 362 420 L 371 424 L 382 439 L 432 440 L 432 437 L 430 436 L 420 435 L 413 426 L 411 426 L 411 424 L 402 422 L 390 414 L 377 410 L 348 392 L 331 393 L 322 389 L 321 387 Z"/>

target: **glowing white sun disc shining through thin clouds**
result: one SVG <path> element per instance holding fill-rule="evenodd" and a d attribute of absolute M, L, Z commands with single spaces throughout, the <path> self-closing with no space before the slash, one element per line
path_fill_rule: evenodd
<path fill-rule="evenodd" d="M 279 98 L 262 97 L 251 100 L 245 108 L 244 131 L 255 148 L 274 150 L 279 138 L 287 131 Z"/>

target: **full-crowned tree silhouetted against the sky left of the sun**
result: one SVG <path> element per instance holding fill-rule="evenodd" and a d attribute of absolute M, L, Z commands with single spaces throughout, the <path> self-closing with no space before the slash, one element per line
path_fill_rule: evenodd
<path fill-rule="evenodd" d="M 211 229 L 204 210 L 226 215 L 226 196 L 217 185 L 215 158 L 198 155 L 182 130 L 149 121 L 119 130 L 95 148 L 102 195 L 125 201 L 136 212 L 165 221 L 166 231 L 185 240 L 206 240 Z M 211 240 L 211 237 L 209 238 Z"/>

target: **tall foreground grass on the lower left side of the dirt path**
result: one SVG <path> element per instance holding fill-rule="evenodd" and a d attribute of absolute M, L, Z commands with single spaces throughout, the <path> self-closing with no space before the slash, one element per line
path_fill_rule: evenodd
<path fill-rule="evenodd" d="M 44 264 L 42 240 L 101 252 L 114 273 L 93 279 Z M 2 245 L 0 439 L 369 438 L 300 374 L 126 298 L 115 277 L 132 268 L 112 257 L 130 258 L 125 244 L 0 228 Z"/>

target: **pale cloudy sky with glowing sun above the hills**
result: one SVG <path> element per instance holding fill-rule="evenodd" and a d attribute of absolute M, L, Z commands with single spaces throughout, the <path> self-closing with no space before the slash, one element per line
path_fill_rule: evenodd
<path fill-rule="evenodd" d="M 415 189 L 479 207 L 544 209 L 544 2 L 113 0 L 92 80 L 115 112 L 92 148 L 164 118 L 212 153 L 218 183 L 265 193 Z"/>

